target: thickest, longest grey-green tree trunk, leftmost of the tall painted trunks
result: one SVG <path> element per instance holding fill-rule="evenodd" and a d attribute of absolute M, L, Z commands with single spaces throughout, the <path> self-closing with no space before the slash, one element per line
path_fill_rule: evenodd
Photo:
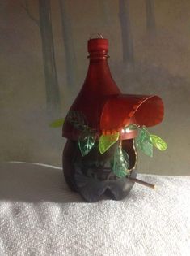
<path fill-rule="evenodd" d="M 51 7 L 49 0 L 39 0 L 40 35 L 42 41 L 47 110 L 57 115 L 60 110 L 60 93 L 53 46 Z"/>

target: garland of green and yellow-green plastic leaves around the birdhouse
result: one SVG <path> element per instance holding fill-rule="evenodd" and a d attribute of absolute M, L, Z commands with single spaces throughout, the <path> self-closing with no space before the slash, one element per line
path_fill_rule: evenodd
<path fill-rule="evenodd" d="M 100 154 L 104 154 L 112 145 L 116 143 L 116 141 L 121 141 L 121 134 L 134 130 L 137 131 L 137 137 L 135 138 L 136 145 L 144 154 L 153 157 L 153 146 L 155 146 L 158 150 L 167 150 L 167 143 L 157 135 L 150 134 L 145 125 L 140 126 L 137 124 L 129 124 L 128 126 L 122 128 L 120 132 L 110 135 L 102 134 L 99 137 L 98 132 L 88 126 L 87 119 L 81 112 L 69 111 L 68 115 L 66 116 L 66 120 L 70 122 L 74 128 L 80 131 L 80 135 L 78 137 L 78 147 L 82 157 L 89 154 L 97 139 L 99 139 L 99 152 Z M 57 128 L 62 126 L 64 121 L 65 119 L 57 119 L 50 124 L 50 127 Z M 119 143 L 118 147 L 116 147 L 111 162 L 111 167 L 114 174 L 118 177 L 124 177 L 129 174 L 129 155 L 125 150 L 122 149 L 121 143 Z"/>

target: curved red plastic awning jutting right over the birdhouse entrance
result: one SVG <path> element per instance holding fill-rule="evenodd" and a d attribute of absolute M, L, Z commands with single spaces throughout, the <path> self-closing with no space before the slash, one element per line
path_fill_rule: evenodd
<path fill-rule="evenodd" d="M 163 101 L 158 96 L 117 95 L 103 106 L 100 129 L 104 134 L 117 132 L 129 124 L 159 124 L 163 120 Z"/>

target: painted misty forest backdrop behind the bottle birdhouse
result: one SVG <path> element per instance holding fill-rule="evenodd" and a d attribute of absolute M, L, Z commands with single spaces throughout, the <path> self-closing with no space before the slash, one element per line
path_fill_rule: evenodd
<path fill-rule="evenodd" d="M 64 117 L 85 79 L 87 40 L 109 40 L 109 65 L 124 93 L 158 94 L 165 119 L 151 132 L 168 143 L 146 173 L 189 174 L 188 0 L 1 0 L 0 160 L 61 166 Z"/>

